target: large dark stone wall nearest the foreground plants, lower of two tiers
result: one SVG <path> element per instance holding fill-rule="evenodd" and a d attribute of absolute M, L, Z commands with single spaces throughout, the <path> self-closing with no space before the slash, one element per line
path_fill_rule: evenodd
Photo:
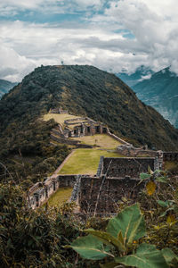
<path fill-rule="evenodd" d="M 102 188 L 101 183 L 103 182 Z M 136 201 L 139 192 L 144 187 L 144 182 L 133 180 L 129 177 L 124 179 L 108 179 L 104 177 L 82 177 L 80 181 L 79 205 L 84 214 L 109 215 L 116 214 L 118 204 L 122 197 Z M 101 188 L 98 205 L 97 198 Z"/>

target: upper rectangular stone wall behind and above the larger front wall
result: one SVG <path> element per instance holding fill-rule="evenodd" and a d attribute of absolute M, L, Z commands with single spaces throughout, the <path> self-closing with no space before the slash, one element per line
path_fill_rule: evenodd
<path fill-rule="evenodd" d="M 155 158 L 109 158 L 103 159 L 102 174 L 107 172 L 107 177 L 139 178 L 141 172 L 148 172 L 148 167 L 155 170 Z"/>

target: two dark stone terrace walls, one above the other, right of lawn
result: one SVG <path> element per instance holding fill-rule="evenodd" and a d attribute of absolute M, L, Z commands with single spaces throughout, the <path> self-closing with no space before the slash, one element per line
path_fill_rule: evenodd
<path fill-rule="evenodd" d="M 122 197 L 136 201 L 144 187 L 141 172 L 155 171 L 158 160 L 145 158 L 104 158 L 101 156 L 95 177 L 81 177 L 78 202 L 83 214 L 116 214 Z M 160 167 L 159 167 L 160 168 Z"/>

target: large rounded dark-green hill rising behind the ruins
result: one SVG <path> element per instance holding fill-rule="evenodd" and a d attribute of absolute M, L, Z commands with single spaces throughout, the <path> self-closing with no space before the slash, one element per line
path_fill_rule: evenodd
<path fill-rule="evenodd" d="M 22 147 L 20 138 L 28 135 L 28 128 L 39 122 L 42 114 L 59 106 L 69 113 L 106 123 L 110 130 L 134 145 L 147 144 L 164 150 L 178 148 L 178 131 L 168 121 L 144 105 L 114 74 L 87 65 L 36 68 L 3 96 L 0 101 L 2 146 L 11 136 L 6 147 L 12 151 L 16 145 L 17 151 Z"/>

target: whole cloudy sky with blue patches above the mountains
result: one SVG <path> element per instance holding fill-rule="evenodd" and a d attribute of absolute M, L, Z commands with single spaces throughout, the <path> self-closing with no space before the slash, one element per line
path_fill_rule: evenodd
<path fill-rule="evenodd" d="M 61 63 L 178 74 L 177 13 L 177 0 L 1 0 L 0 79 Z"/>

